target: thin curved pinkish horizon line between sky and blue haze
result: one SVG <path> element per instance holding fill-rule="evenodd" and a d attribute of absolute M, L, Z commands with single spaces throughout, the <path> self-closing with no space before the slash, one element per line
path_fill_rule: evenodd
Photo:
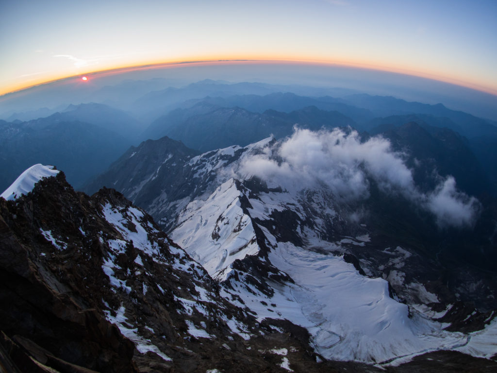
<path fill-rule="evenodd" d="M 72 78 L 76 77 L 81 77 L 81 76 L 95 76 L 95 75 L 100 75 L 100 74 L 112 74 L 112 73 L 119 73 L 119 72 L 130 72 L 130 71 L 135 71 L 135 70 L 146 70 L 146 69 L 159 69 L 159 68 L 166 68 L 166 67 L 174 67 L 174 66 L 181 66 L 181 65 L 194 65 L 194 64 L 219 64 L 219 63 L 290 63 L 290 64 L 309 64 L 309 65 L 325 65 L 325 66 L 340 66 L 340 67 L 349 67 L 349 68 L 356 68 L 356 69 L 363 69 L 363 70 L 373 70 L 373 71 L 379 71 L 379 72 L 386 72 L 386 73 L 391 73 L 391 74 L 398 74 L 398 75 L 407 75 L 407 76 L 412 76 L 415 78 L 421 78 L 421 79 L 428 79 L 436 82 L 441 82 L 441 83 L 446 83 L 446 84 L 451 84 L 459 87 L 463 87 L 466 89 L 471 89 L 474 91 L 479 91 L 487 94 L 491 94 L 494 96 L 497 96 L 497 90 L 493 90 L 490 88 L 482 87 L 477 84 L 472 84 L 468 82 L 463 82 L 459 81 L 456 79 L 451 79 L 451 78 L 440 78 L 432 74 L 427 74 L 427 73 L 421 73 L 421 72 L 413 72 L 413 71 L 407 71 L 407 70 L 402 70 L 402 69 L 388 69 L 385 67 L 381 66 L 374 66 L 374 65 L 367 65 L 367 64 L 359 64 L 359 63 L 343 63 L 343 62 L 331 62 L 331 61 L 324 61 L 324 60 L 299 60 L 299 59 L 209 59 L 209 60 L 186 60 L 186 61 L 172 61 L 172 62 L 157 62 L 157 63 L 148 63 L 144 65 L 129 65 L 129 66 L 124 66 L 124 67 L 117 67 L 117 68 L 111 68 L 111 69 L 104 69 L 104 70 L 92 70 L 88 71 L 85 73 L 81 74 L 74 74 L 74 75 L 69 75 L 65 76 L 62 78 L 57 78 L 57 79 L 52 79 L 48 80 L 45 82 L 29 85 L 26 87 L 22 87 L 13 91 L 9 91 L 6 93 L 0 94 L 0 97 L 4 97 L 9 94 L 13 93 L 19 93 L 22 91 L 26 91 L 35 87 L 40 87 L 64 80 L 69 80 Z"/>

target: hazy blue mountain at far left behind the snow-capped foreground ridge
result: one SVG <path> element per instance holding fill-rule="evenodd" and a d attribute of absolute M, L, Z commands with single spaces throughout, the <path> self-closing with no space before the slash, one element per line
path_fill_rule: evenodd
<path fill-rule="evenodd" d="M 71 183 L 81 186 L 103 172 L 130 145 L 119 134 L 83 122 L 55 117 L 0 127 L 0 189 L 36 163 L 57 164 Z"/>

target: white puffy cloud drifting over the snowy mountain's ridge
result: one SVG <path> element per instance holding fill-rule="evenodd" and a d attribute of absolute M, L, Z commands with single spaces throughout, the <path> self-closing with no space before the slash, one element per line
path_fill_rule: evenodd
<path fill-rule="evenodd" d="M 342 200 L 367 198 L 369 180 L 374 180 L 382 191 L 403 194 L 432 212 L 440 227 L 471 225 L 478 213 L 478 200 L 457 191 L 452 177 L 431 193 L 418 191 L 412 171 L 404 162 L 405 155 L 395 152 L 380 136 L 361 142 L 356 131 L 295 128 L 293 135 L 272 151 L 271 158 L 267 152 L 247 158 L 239 176 L 254 175 L 287 190 L 325 184 Z"/>

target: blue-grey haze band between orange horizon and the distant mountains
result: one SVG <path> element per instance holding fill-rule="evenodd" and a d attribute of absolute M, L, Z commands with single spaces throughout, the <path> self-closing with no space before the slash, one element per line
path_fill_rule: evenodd
<path fill-rule="evenodd" d="M 107 103 L 129 111 L 136 100 L 150 91 L 164 90 L 167 87 L 180 88 L 204 79 L 278 85 L 265 91 L 265 94 L 293 92 L 333 97 L 351 93 L 392 95 L 408 101 L 430 104 L 441 102 L 453 110 L 497 120 L 497 96 L 462 86 L 370 69 L 309 63 L 243 61 L 188 63 L 98 73 L 88 75 L 86 82 L 80 77 L 69 78 L 0 96 L 0 119 L 6 119 L 15 112 L 42 107 L 55 112 L 65 109 L 71 103 L 87 102 Z M 239 93 L 263 94 L 262 92 L 263 88 L 257 92 Z M 202 95 L 201 91 L 198 94 L 196 98 L 207 95 Z M 178 97 L 178 100 L 181 101 L 181 98 Z"/>

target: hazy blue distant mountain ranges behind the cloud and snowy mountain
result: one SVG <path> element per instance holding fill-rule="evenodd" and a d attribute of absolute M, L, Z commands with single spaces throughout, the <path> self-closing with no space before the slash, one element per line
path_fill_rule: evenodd
<path fill-rule="evenodd" d="M 447 109 L 441 104 L 427 105 L 365 94 L 341 98 L 299 96 L 270 92 L 274 89 L 271 87 L 203 81 L 185 89 L 150 93 L 136 104 L 143 104 L 142 110 L 149 110 L 149 117 L 153 117 L 153 112 L 166 114 L 158 115 L 148 128 L 131 114 L 100 103 L 70 105 L 48 117 L 26 122 L 1 122 L 1 141 L 5 145 L 0 158 L 4 175 L 0 186 L 8 186 L 15 175 L 32 163 L 60 163 L 61 156 L 67 154 L 62 166 L 67 167 L 68 179 L 80 187 L 85 180 L 104 171 L 127 146 L 137 145 L 140 138 L 159 139 L 167 135 L 190 148 L 206 151 L 235 144 L 245 146 L 269 135 L 283 138 L 292 133 L 294 125 L 315 130 L 350 126 L 377 134 L 415 122 L 421 126 L 449 128 L 465 136 L 469 140 L 466 145 L 481 165 L 475 169 L 477 174 L 473 180 L 480 178 L 483 168 L 480 184 L 486 184 L 487 180 L 492 184 L 492 193 L 497 190 L 494 167 L 497 156 L 493 151 L 497 127 L 494 122 Z M 204 93 L 210 96 L 202 97 Z M 133 107 L 129 106 L 131 111 Z M 43 110 L 39 112 L 43 113 Z M 22 113 L 19 115 L 22 117 Z M 60 124 L 69 122 L 80 122 L 80 125 Z M 85 125 L 81 123 L 88 123 L 86 129 L 94 130 L 85 132 Z M 45 128 L 44 135 L 40 132 L 42 128 Z M 85 140 L 79 141 L 80 137 Z M 460 160 L 463 161 L 463 157 Z M 88 167 L 82 167 L 83 164 Z M 459 179 L 460 185 L 466 188 L 462 176 Z M 479 193 L 483 189 L 468 190 Z"/>

